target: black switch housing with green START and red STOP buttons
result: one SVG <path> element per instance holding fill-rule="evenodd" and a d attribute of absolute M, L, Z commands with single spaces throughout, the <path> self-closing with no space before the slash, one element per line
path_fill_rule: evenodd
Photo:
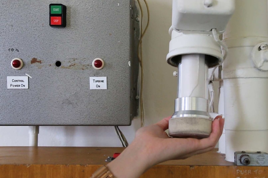
<path fill-rule="evenodd" d="M 66 11 L 67 8 L 63 4 L 49 4 L 49 25 L 66 27 Z"/>

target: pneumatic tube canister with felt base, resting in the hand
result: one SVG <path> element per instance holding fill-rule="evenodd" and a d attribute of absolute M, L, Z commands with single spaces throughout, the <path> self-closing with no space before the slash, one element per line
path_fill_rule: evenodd
<path fill-rule="evenodd" d="M 211 133 L 205 54 L 184 54 L 178 64 L 178 98 L 169 121 L 171 137 L 204 138 Z"/>

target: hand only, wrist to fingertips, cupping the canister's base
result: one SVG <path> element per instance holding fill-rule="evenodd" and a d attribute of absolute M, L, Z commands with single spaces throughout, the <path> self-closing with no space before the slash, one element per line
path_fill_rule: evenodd
<path fill-rule="evenodd" d="M 217 116 L 212 124 L 210 137 L 204 139 L 195 138 L 171 138 L 165 130 L 169 127 L 169 119 L 164 118 L 160 122 L 139 129 L 135 140 L 147 149 L 150 154 L 150 165 L 172 160 L 185 159 L 195 154 L 205 153 L 215 148 L 224 127 L 224 119 Z"/>

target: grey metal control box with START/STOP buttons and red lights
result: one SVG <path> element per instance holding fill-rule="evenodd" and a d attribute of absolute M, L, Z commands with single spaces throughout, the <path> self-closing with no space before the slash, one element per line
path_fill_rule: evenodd
<path fill-rule="evenodd" d="M 0 125 L 130 125 L 132 0 L 2 0 Z"/>

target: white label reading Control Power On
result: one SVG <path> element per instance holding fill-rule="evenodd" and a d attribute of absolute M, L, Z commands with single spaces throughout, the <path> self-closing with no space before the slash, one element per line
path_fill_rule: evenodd
<path fill-rule="evenodd" d="M 29 89 L 28 76 L 7 76 L 7 89 Z"/>

